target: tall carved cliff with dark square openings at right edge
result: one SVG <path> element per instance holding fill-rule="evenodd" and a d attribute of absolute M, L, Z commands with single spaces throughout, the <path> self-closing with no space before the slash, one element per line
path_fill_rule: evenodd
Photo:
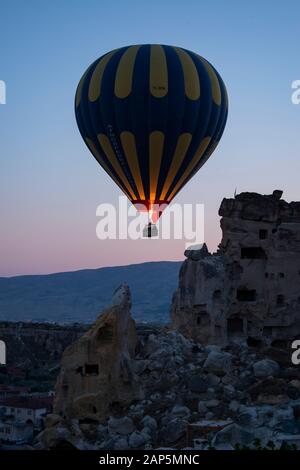
<path fill-rule="evenodd" d="M 241 193 L 223 199 L 222 241 L 187 250 L 173 298 L 173 327 L 203 344 L 285 346 L 300 335 L 300 202 Z"/>

